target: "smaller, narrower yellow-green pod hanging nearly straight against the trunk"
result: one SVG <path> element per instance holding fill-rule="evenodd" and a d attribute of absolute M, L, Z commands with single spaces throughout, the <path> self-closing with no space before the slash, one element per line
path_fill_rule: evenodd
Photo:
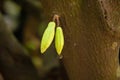
<path fill-rule="evenodd" d="M 64 46 L 63 30 L 61 27 L 57 27 L 56 34 L 55 34 L 55 48 L 56 48 L 58 55 L 61 54 L 63 46 Z"/>

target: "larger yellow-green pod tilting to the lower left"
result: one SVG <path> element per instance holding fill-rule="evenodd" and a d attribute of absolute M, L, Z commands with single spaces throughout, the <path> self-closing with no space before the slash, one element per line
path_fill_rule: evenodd
<path fill-rule="evenodd" d="M 55 22 L 49 22 L 41 40 L 41 53 L 44 53 L 53 41 L 55 34 Z"/>

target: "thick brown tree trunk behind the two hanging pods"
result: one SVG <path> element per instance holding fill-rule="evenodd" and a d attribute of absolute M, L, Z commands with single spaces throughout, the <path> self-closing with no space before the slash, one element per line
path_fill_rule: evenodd
<path fill-rule="evenodd" d="M 70 80 L 116 80 L 119 0 L 40 0 L 46 22 L 55 14 L 65 35 L 62 52 Z"/>

